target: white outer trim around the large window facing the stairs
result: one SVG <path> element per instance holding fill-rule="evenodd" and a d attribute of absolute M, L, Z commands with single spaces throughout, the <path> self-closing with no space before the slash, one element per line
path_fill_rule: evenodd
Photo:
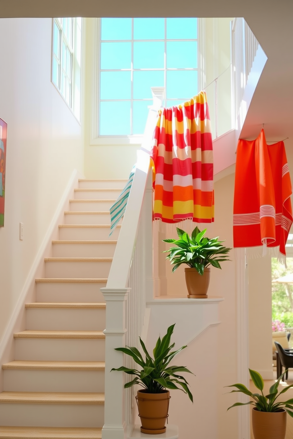
<path fill-rule="evenodd" d="M 199 26 L 201 25 L 201 20 L 198 18 L 198 36 L 197 36 L 197 42 L 198 42 L 198 66 L 196 69 L 198 71 L 198 87 L 201 86 L 202 80 L 200 77 L 200 60 L 201 60 L 201 31 Z M 99 135 L 99 123 L 98 123 L 98 116 L 99 116 L 99 90 L 100 90 L 100 26 L 101 26 L 101 19 L 96 18 L 94 20 L 94 47 L 96 47 L 96 50 L 94 50 L 94 59 L 93 59 L 93 78 L 92 78 L 92 117 L 91 117 L 91 127 L 90 127 L 90 145 L 126 145 L 126 144 L 132 144 L 140 146 L 143 134 L 141 135 L 126 135 L 126 136 L 100 136 Z M 174 69 L 177 70 L 177 69 Z M 181 70 L 181 69 L 178 69 Z M 190 69 L 187 69 L 190 70 Z M 166 71 L 165 71 L 166 74 Z M 156 86 L 156 84 L 154 84 Z M 174 98 L 175 99 L 175 98 Z M 152 104 L 152 101 L 150 101 L 150 105 Z"/>

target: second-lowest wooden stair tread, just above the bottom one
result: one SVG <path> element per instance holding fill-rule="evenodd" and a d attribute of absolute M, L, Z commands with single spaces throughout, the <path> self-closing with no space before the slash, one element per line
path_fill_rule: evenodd
<path fill-rule="evenodd" d="M 10 404 L 104 404 L 105 394 L 96 392 L 2 392 L 0 403 Z"/>

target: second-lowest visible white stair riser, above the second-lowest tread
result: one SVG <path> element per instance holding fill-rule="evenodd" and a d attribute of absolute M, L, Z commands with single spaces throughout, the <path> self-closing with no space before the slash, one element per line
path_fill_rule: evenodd
<path fill-rule="evenodd" d="M 104 392 L 105 372 L 5 369 L 3 390 L 5 392 Z"/>

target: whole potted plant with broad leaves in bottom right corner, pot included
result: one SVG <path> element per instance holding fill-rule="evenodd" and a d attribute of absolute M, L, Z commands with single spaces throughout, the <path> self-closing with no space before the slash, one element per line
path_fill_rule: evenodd
<path fill-rule="evenodd" d="M 286 436 L 286 412 L 293 417 L 293 398 L 286 401 L 280 401 L 279 396 L 287 392 L 293 387 L 293 384 L 284 387 L 281 392 L 278 392 L 279 383 L 286 373 L 279 377 L 279 379 L 270 387 L 268 395 L 264 395 L 264 380 L 257 372 L 249 369 L 250 377 L 253 384 L 261 393 L 252 393 L 243 384 L 232 384 L 226 387 L 236 387 L 237 390 L 232 390 L 229 393 L 241 392 L 252 398 L 248 403 L 235 403 L 232 407 L 245 406 L 247 404 L 253 405 L 252 409 L 252 428 L 255 439 L 285 439 Z"/>

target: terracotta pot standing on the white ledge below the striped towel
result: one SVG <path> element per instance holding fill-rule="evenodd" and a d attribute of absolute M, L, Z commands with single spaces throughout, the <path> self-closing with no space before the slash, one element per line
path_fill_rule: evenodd
<path fill-rule="evenodd" d="M 203 276 L 195 268 L 185 268 L 185 282 L 189 299 L 205 299 L 210 284 L 210 268 L 203 270 Z"/>

